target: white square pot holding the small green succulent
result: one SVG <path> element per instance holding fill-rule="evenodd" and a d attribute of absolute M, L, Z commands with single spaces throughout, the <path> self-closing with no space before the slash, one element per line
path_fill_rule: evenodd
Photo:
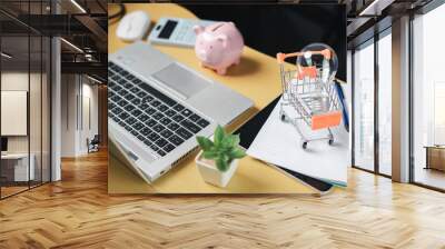
<path fill-rule="evenodd" d="M 198 168 L 204 181 L 221 188 L 225 188 L 229 183 L 231 177 L 238 168 L 238 161 L 239 159 L 233 160 L 229 169 L 226 172 L 221 172 L 218 170 L 218 168 L 216 168 L 212 160 L 202 158 L 202 150 L 195 159 L 196 167 Z"/>

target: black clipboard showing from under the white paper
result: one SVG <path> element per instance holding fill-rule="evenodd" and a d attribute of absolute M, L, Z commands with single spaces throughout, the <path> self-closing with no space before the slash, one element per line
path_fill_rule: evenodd
<path fill-rule="evenodd" d="M 271 111 L 274 110 L 275 106 L 277 104 L 278 100 L 281 96 L 278 96 L 274 101 L 271 101 L 267 107 L 265 107 L 261 111 L 259 111 L 256 116 L 254 116 L 249 121 L 247 121 L 243 127 L 238 130 L 234 131 L 235 135 L 239 135 L 240 142 L 239 145 L 245 149 L 248 149 L 254 141 L 255 137 L 261 129 L 263 124 L 269 118 Z M 313 187 L 314 189 L 320 192 L 329 191 L 334 186 L 326 181 L 318 180 L 313 177 L 308 177 L 306 175 L 298 173 L 296 171 L 273 165 L 277 170 L 281 171 L 283 173 L 287 175 L 288 177 L 295 178 L 304 183 Z"/>

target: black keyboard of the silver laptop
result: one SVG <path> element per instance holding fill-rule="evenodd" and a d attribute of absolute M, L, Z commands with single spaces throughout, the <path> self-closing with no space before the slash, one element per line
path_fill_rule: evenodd
<path fill-rule="evenodd" d="M 108 118 L 164 157 L 209 121 L 108 62 Z"/>

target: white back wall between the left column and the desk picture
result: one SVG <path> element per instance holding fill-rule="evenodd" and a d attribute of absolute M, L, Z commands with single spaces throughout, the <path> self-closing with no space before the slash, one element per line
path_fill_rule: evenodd
<path fill-rule="evenodd" d="M 85 76 L 62 74 L 62 157 L 86 155 L 87 139 L 92 139 L 98 133 L 98 87 L 92 83 Z M 90 108 L 86 108 L 86 101 L 89 101 Z M 90 117 L 90 126 L 86 117 Z"/>

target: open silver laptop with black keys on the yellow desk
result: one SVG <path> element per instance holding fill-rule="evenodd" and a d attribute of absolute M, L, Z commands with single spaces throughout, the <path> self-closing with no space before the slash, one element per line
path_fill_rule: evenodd
<path fill-rule="evenodd" d="M 109 138 L 147 182 L 192 151 L 196 136 L 211 136 L 251 106 L 147 43 L 109 56 Z"/>

